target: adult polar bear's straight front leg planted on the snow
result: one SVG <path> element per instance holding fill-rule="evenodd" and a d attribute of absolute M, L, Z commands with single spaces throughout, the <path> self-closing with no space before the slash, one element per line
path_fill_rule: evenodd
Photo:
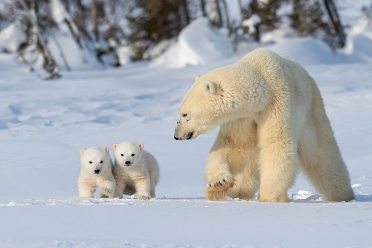
<path fill-rule="evenodd" d="M 293 120 L 287 113 L 290 108 L 280 104 L 266 109 L 258 124 L 261 184 L 257 200 L 262 202 L 290 202 L 287 190 L 294 184 L 299 167 Z"/>

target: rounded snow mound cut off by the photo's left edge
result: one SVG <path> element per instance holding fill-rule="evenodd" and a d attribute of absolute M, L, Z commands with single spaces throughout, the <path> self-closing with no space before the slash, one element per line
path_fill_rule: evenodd
<path fill-rule="evenodd" d="M 0 51 L 17 51 L 26 38 L 21 27 L 13 22 L 0 32 Z"/>

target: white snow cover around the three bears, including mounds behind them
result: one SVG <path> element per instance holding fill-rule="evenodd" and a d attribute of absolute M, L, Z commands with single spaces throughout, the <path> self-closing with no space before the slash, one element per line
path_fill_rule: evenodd
<path fill-rule="evenodd" d="M 311 38 L 233 51 L 223 30 L 197 19 L 155 60 L 54 81 L 0 53 L 0 247 L 372 247 L 372 29 L 359 14 L 341 11 L 353 27 L 337 52 Z M 8 29 L 0 41 L 11 49 L 22 37 Z M 323 201 L 301 173 L 291 203 L 205 200 L 204 161 L 218 130 L 175 141 L 179 104 L 196 75 L 256 47 L 294 57 L 314 77 L 355 201 Z M 79 149 L 125 140 L 157 158 L 156 199 L 79 199 Z"/>

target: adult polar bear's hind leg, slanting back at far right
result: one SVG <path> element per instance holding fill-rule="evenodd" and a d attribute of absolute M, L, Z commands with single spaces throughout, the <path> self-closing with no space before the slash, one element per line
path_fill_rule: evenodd
<path fill-rule="evenodd" d="M 318 89 L 315 89 L 312 120 L 299 143 L 301 168 L 327 201 L 351 201 L 354 192 Z"/>

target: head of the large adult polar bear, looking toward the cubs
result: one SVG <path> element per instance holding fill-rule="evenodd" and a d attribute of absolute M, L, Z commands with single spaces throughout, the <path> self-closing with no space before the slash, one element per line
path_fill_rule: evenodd
<path fill-rule="evenodd" d="M 203 77 L 196 82 L 184 97 L 174 131 L 176 140 L 192 140 L 218 125 L 219 87 Z"/>

